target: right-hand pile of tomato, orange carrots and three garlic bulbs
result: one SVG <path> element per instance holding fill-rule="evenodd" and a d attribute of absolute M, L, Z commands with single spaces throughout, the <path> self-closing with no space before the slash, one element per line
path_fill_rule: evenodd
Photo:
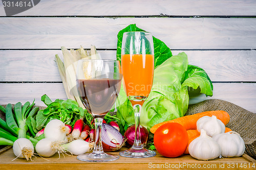
<path fill-rule="evenodd" d="M 225 126 L 229 114 L 206 111 L 159 123 L 151 128 L 156 150 L 165 157 L 190 154 L 199 160 L 239 157 L 245 151 L 243 139 Z"/>

